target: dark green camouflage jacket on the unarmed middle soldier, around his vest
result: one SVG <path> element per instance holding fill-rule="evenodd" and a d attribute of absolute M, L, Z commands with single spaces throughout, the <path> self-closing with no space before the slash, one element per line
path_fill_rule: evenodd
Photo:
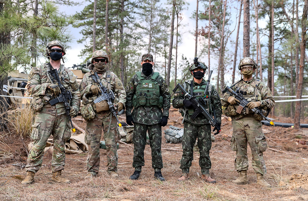
<path fill-rule="evenodd" d="M 150 79 L 154 72 L 152 72 L 151 75 L 146 77 L 143 73 L 141 73 L 141 76 L 145 79 Z M 163 97 L 163 103 L 162 103 L 162 109 L 158 106 L 138 106 L 137 108 L 133 108 L 132 99 L 134 94 L 136 93 L 136 87 L 139 83 L 140 79 L 138 78 L 137 74 L 133 75 L 131 80 L 129 81 L 128 85 L 126 86 L 126 116 L 132 115 L 133 120 L 136 123 L 139 124 L 148 124 L 148 125 L 154 125 L 158 124 L 158 122 L 161 120 L 162 116 L 169 116 L 169 108 L 170 108 L 170 93 L 169 93 L 169 87 L 164 81 L 164 78 L 160 75 L 156 78 L 156 82 L 159 85 L 160 89 L 160 96 Z"/>

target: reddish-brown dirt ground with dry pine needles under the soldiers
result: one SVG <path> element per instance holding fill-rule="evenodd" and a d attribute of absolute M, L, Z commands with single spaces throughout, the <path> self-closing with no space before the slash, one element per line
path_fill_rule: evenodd
<path fill-rule="evenodd" d="M 80 117 L 78 117 L 80 118 Z M 125 117 L 120 118 L 124 120 Z M 170 109 L 170 120 L 163 130 L 170 125 L 183 127 L 182 117 L 176 109 Z M 282 117 L 275 121 L 289 122 Z M 303 120 L 306 123 L 307 120 Z M 75 121 L 85 129 L 85 122 Z M 194 152 L 190 168 L 190 179 L 179 182 L 181 175 L 179 151 L 162 150 L 164 168 L 162 174 L 166 181 L 153 178 L 151 149 L 146 145 L 145 166 L 139 180 L 128 177 L 133 173 L 133 149 L 120 144 L 118 150 L 119 165 L 117 179 L 111 179 L 106 173 L 106 150 L 101 150 L 100 173 L 98 177 L 84 180 L 87 153 L 66 155 L 63 175 L 71 180 L 70 184 L 59 184 L 51 181 L 51 155 L 46 154 L 42 168 L 35 175 L 35 182 L 30 185 L 20 184 L 25 175 L 27 158 L 26 146 L 30 139 L 19 140 L 14 134 L 6 138 L 0 152 L 0 200 L 308 200 L 308 129 L 268 127 L 262 128 L 267 137 L 268 149 L 264 152 L 267 167 L 265 179 L 272 185 L 270 188 L 256 184 L 256 175 L 251 167 L 251 152 L 248 148 L 249 183 L 234 185 L 231 181 L 238 177 L 234 169 L 235 152 L 230 149 L 232 125 L 223 118 L 221 133 L 215 136 L 210 157 L 210 173 L 217 180 L 216 184 L 201 180 L 198 164 L 199 153 Z M 181 144 L 169 144 L 162 140 L 163 148 L 181 149 Z M 5 150 L 5 151 L 3 151 Z"/>

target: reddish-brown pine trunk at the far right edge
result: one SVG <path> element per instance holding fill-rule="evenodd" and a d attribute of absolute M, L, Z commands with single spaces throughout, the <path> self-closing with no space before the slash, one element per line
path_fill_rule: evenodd
<path fill-rule="evenodd" d="M 303 14 L 302 14 L 302 41 L 301 41 L 301 58 L 299 61 L 299 73 L 298 73 L 298 85 L 297 85 L 297 93 L 296 99 L 302 97 L 302 86 L 303 86 L 303 78 L 304 78 L 304 61 L 305 61 L 305 50 L 306 50 L 306 31 L 307 31 L 307 13 L 308 13 L 308 0 L 305 0 Z M 294 129 L 300 128 L 300 114 L 301 114 L 301 102 L 296 101 L 295 106 L 295 116 L 294 116 Z"/>

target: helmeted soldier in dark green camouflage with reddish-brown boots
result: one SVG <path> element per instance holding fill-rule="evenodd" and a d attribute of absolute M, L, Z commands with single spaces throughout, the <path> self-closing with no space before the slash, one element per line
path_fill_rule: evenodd
<path fill-rule="evenodd" d="M 205 63 L 199 61 L 197 66 L 192 64 L 188 69 L 193 75 L 193 80 L 185 81 L 182 86 L 188 93 L 195 95 L 197 99 L 200 97 L 206 98 L 208 106 L 205 106 L 205 108 L 212 115 L 214 115 L 214 112 L 216 113 L 217 127 L 215 127 L 213 131 L 217 130 L 218 133 L 220 132 L 221 126 L 221 101 L 217 91 L 211 84 L 209 84 L 208 89 L 206 89 L 207 81 L 204 80 L 203 77 L 208 67 Z M 192 88 L 193 91 L 191 91 Z M 209 124 L 209 120 L 201 115 L 197 116 L 194 120 L 191 119 L 191 115 L 194 112 L 192 102 L 186 100 L 182 92 L 176 92 L 174 94 L 172 106 L 174 108 L 180 108 L 184 121 L 184 136 L 182 141 L 183 155 L 180 162 L 182 175 L 178 180 L 184 181 L 188 179 L 189 168 L 193 160 L 193 147 L 198 137 L 198 148 L 200 152 L 199 165 L 202 173 L 201 179 L 204 179 L 208 183 L 216 183 L 216 180 L 212 179 L 209 175 L 209 169 L 211 169 L 209 151 L 212 147 L 211 125 Z"/>

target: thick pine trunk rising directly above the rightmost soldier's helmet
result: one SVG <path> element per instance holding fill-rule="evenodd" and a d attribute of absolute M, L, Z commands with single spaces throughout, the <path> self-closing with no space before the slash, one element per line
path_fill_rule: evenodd
<path fill-rule="evenodd" d="M 249 37 L 249 28 L 250 28 L 250 14 L 249 14 L 249 0 L 244 0 L 244 19 L 243 19 L 243 56 L 249 57 L 250 49 L 250 37 Z"/>

